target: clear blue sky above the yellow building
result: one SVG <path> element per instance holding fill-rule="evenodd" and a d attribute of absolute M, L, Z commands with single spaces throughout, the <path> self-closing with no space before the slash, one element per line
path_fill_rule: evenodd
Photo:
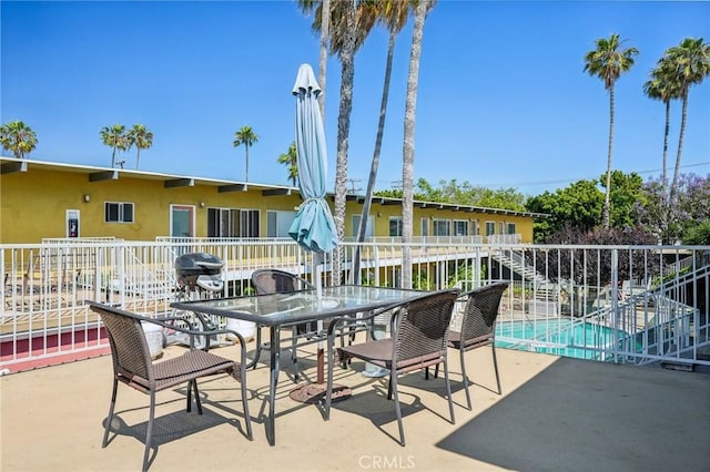
<path fill-rule="evenodd" d="M 294 138 L 291 89 L 301 63 L 317 74 L 320 39 L 292 1 L 2 1 L 0 121 L 38 134 L 30 158 L 110 166 L 102 126 L 154 133 L 141 170 L 287 184 L 276 163 Z M 616 86 L 613 167 L 660 174 L 665 106 L 642 84 L 683 38 L 710 41 L 708 2 L 439 0 L 425 24 L 415 178 L 537 195 L 606 171 L 609 100 L 582 72 L 595 40 L 619 33 L 639 49 Z M 402 179 L 412 24 L 398 37 L 377 189 Z M 348 187 L 364 193 L 383 86 L 387 34 L 355 62 Z M 327 65 L 328 188 L 333 188 L 341 66 Z M 673 103 L 669 166 L 680 103 Z M 135 151 L 125 155 L 134 168 Z M 682 172 L 710 173 L 710 79 L 690 92 Z"/>

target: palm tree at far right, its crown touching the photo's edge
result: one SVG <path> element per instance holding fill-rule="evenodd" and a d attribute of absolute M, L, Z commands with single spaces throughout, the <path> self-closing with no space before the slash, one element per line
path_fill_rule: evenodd
<path fill-rule="evenodd" d="M 710 44 L 703 43 L 702 38 L 686 38 L 679 45 L 666 51 L 666 55 L 672 68 L 670 81 L 679 89 L 683 101 L 683 111 L 680 120 L 680 135 L 678 137 L 678 154 L 676 156 L 676 170 L 673 181 L 670 184 L 670 204 L 672 205 L 678 193 L 678 177 L 680 174 L 680 157 L 683 152 L 683 138 L 686 137 L 686 121 L 688 119 L 688 94 L 693 84 L 699 84 L 710 75 Z"/>

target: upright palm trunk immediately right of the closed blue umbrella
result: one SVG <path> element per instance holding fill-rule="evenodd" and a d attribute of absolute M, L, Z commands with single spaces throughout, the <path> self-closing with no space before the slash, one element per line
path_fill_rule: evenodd
<path fill-rule="evenodd" d="M 338 242 L 345 237 L 345 197 L 347 192 L 347 148 L 353 112 L 353 81 L 355 78 L 355 2 L 348 0 L 345 9 L 347 32 L 339 53 L 342 64 L 341 106 L 337 116 L 337 160 L 335 164 L 335 228 Z M 342 281 L 342 247 L 333 250 L 333 285 Z"/>

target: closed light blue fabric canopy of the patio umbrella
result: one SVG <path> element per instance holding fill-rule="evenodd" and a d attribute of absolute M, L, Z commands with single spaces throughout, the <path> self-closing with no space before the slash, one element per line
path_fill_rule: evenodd
<path fill-rule="evenodd" d="M 292 93 L 296 96 L 296 165 L 304 202 L 288 228 L 288 235 L 307 250 L 328 253 L 337 246 L 337 232 L 325 201 L 327 153 L 317 101 L 322 91 L 311 65 L 298 68 Z"/>

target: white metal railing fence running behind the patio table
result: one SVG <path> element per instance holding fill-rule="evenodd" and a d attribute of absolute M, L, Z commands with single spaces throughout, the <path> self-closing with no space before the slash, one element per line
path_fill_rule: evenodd
<path fill-rule="evenodd" d="M 322 263 L 324 284 L 355 281 L 357 245 L 344 243 Z M 403 244 L 361 245 L 359 283 L 399 286 Z M 710 363 L 710 247 L 541 246 L 481 244 L 456 238 L 410 245 L 413 286 L 463 290 L 495 280 L 510 284 L 497 321 L 503 347 L 616 362 Z M 314 257 L 291 239 L 159 238 L 52 239 L 0 245 L 1 369 L 22 370 L 70 357 L 105 352 L 108 341 L 84 300 L 159 315 L 180 293 L 174 260 L 185 253 L 222 259 L 216 296 L 251 293 L 258 268 L 276 267 L 313 280 Z"/>

